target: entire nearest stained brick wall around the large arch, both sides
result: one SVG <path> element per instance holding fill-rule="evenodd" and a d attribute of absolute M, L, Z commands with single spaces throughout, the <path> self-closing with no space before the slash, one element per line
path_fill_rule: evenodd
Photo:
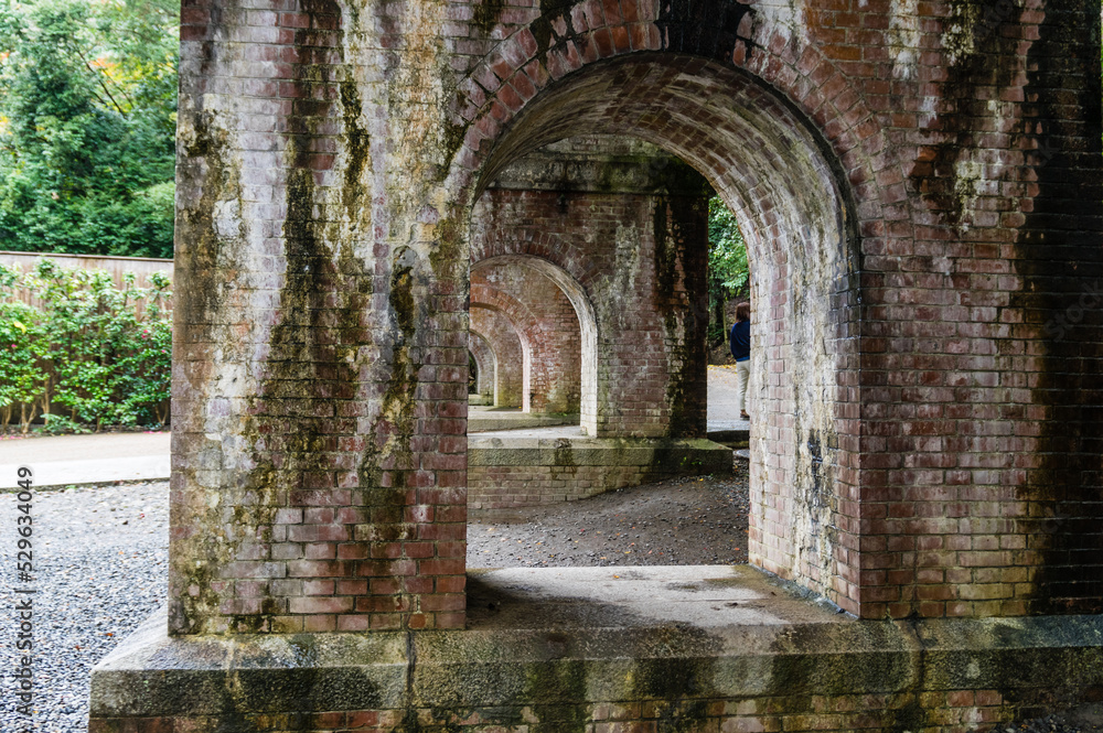
<path fill-rule="evenodd" d="M 463 625 L 473 212 L 593 134 L 678 155 L 746 235 L 751 562 L 865 617 L 1103 610 L 1099 29 L 1097 0 L 188 0 L 171 629 Z M 593 277 L 554 229 L 515 248 Z M 692 360 L 676 249 L 647 257 Z"/>

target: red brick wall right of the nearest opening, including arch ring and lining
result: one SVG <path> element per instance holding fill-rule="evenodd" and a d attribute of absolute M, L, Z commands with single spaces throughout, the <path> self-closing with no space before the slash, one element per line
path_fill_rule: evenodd
<path fill-rule="evenodd" d="M 503 15 L 460 160 L 491 176 L 565 130 L 633 131 L 736 208 L 768 357 L 752 562 L 870 617 L 1100 610 L 1099 3 L 789 12 L 583 3 L 550 36 Z M 677 53 L 783 101 L 740 119 L 773 95 Z M 786 137 L 808 168 L 774 157 Z"/>

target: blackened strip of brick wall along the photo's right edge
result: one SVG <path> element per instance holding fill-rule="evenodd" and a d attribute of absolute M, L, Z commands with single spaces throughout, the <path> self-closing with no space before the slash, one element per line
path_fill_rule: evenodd
<path fill-rule="evenodd" d="M 1032 104 L 1018 142 L 1037 194 L 1016 233 L 1010 263 L 1022 288 L 1008 308 L 1022 314 L 1041 352 L 1031 397 L 1046 417 L 1037 421 L 1034 470 L 1018 491 L 1029 514 L 1017 522 L 1041 556 L 1030 576 L 1034 613 L 1103 612 L 1103 409 L 1089 397 L 1103 394 L 1093 358 L 1103 328 L 1100 66 L 1097 53 L 1079 55 L 1067 45 L 1075 28 L 1092 33 L 1097 50 L 1099 20 L 1099 2 L 1051 3 L 1027 53 L 1024 93 Z M 1078 78 L 1089 82 L 1078 86 Z M 1068 141 L 1082 142 L 1074 149 Z M 1093 220 L 1096 228 L 1054 224 L 1061 220 Z"/>

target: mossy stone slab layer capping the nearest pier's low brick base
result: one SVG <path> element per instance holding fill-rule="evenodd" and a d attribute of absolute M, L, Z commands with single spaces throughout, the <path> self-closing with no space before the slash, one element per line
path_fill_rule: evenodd
<path fill-rule="evenodd" d="M 857 621 L 746 565 L 469 580 L 465 630 L 170 638 L 161 612 L 93 670 L 92 718 L 1103 685 L 1103 616 Z"/>

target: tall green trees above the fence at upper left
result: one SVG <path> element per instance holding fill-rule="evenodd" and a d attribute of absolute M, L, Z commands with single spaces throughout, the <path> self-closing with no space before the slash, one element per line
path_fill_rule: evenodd
<path fill-rule="evenodd" d="M 172 256 L 176 12 L 0 0 L 0 249 Z"/>

